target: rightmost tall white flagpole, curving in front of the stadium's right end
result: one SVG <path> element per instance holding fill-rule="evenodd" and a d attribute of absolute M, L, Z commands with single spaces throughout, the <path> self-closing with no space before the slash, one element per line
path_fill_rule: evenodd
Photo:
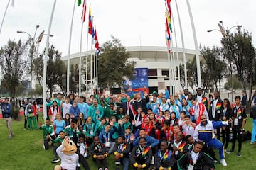
<path fill-rule="evenodd" d="M 195 24 L 193 22 L 193 16 L 192 16 L 192 11 L 191 11 L 189 1 L 186 0 L 186 3 L 188 6 L 188 13 L 191 18 L 191 27 L 192 27 L 192 31 L 193 31 L 193 38 L 194 38 L 194 44 L 195 44 L 195 50 L 196 50 L 196 70 L 197 70 L 197 76 L 198 76 L 197 77 L 198 78 L 198 87 L 201 87 L 201 68 L 200 68 L 200 60 L 199 60 L 198 42 L 197 42 L 197 38 L 196 38 L 196 28 L 195 28 Z"/>

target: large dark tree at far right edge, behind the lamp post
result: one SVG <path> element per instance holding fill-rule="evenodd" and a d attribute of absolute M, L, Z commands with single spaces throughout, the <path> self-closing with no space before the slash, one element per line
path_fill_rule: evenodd
<path fill-rule="evenodd" d="M 230 65 L 235 65 L 236 76 L 242 82 L 242 88 L 245 90 L 246 95 L 246 88 L 248 87 L 249 89 L 246 106 L 250 108 L 253 101 L 252 86 L 256 84 L 256 56 L 255 47 L 252 45 L 252 34 L 246 30 L 238 30 L 237 33 L 227 34 L 221 40 L 221 43 L 225 58 L 230 62 Z"/>

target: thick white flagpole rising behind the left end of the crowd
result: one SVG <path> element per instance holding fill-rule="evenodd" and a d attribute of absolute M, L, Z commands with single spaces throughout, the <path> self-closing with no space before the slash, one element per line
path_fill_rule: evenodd
<path fill-rule="evenodd" d="M 55 10 L 56 6 L 56 1 L 53 3 L 53 9 L 52 13 L 50 14 L 50 22 L 49 22 L 49 27 L 48 27 L 48 34 L 47 34 L 47 39 L 46 39 L 46 54 L 43 60 L 43 119 L 46 120 L 47 118 L 47 110 L 46 110 L 46 72 L 47 72 L 47 59 L 48 59 L 48 48 L 49 48 L 49 38 L 50 38 L 50 28 L 51 24 L 53 21 L 53 13 Z"/>

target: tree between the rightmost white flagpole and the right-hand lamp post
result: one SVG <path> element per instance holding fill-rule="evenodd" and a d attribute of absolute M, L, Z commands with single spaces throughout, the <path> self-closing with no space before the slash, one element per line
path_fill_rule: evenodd
<path fill-rule="evenodd" d="M 210 81 L 212 81 L 211 83 L 215 85 L 215 89 L 220 91 L 220 81 L 223 79 L 225 69 L 227 68 L 221 50 L 215 46 L 212 49 L 210 47 L 203 47 L 201 55 L 206 64 L 204 66 L 206 74 L 208 74 Z"/>

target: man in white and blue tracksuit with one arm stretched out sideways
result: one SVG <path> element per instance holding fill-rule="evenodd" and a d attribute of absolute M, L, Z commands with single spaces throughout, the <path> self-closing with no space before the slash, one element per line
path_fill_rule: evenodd
<path fill-rule="evenodd" d="M 206 145 L 209 145 L 210 147 L 218 149 L 220 154 L 220 163 L 223 164 L 223 166 L 227 166 L 227 163 L 225 162 L 224 153 L 223 153 L 224 152 L 223 143 L 215 139 L 214 130 L 216 128 L 220 128 L 225 125 L 228 125 L 228 123 L 230 123 L 230 120 L 210 121 L 210 120 L 206 120 L 206 115 L 201 115 L 200 118 L 201 118 L 201 123 L 196 126 L 196 129 L 194 132 L 194 139 L 196 141 L 198 140 L 203 141 L 206 143 Z"/>

